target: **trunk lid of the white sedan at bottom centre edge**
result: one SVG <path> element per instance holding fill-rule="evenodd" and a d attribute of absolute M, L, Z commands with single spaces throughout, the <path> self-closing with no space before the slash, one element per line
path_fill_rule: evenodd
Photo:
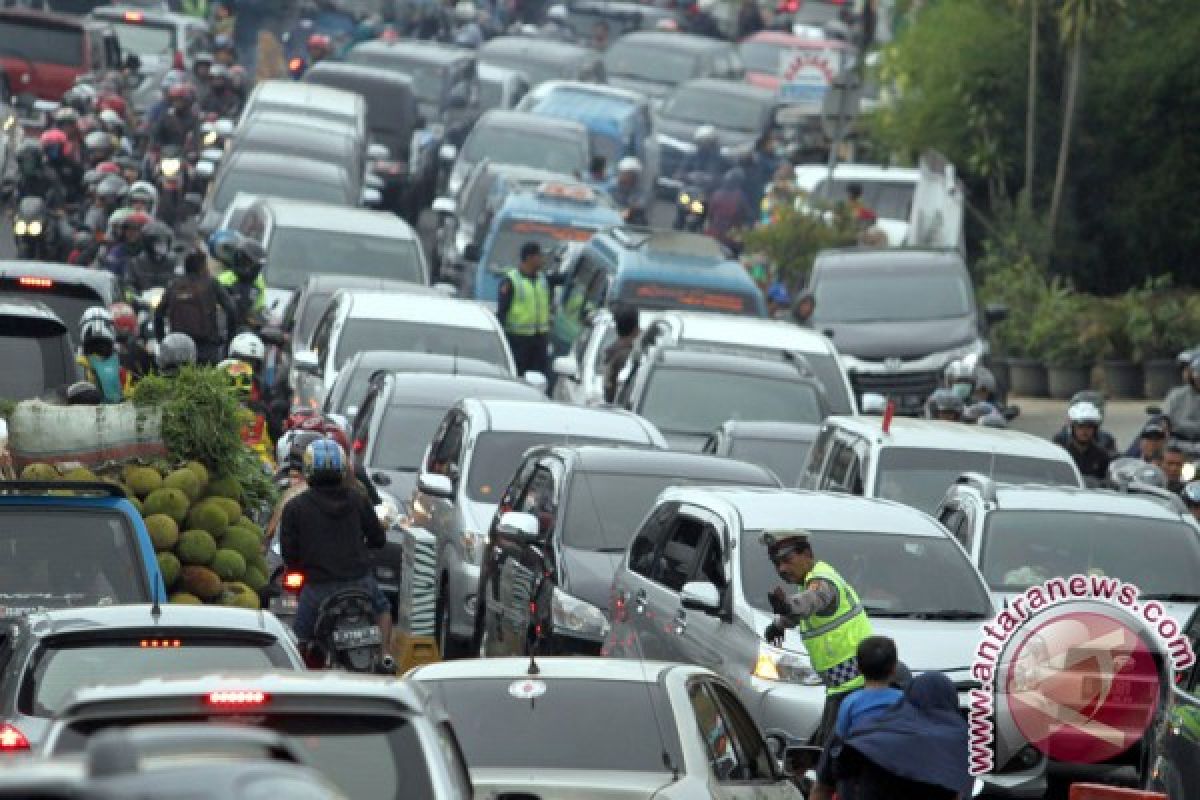
<path fill-rule="evenodd" d="M 512 793 L 541 800 L 632 800 L 650 798 L 672 782 L 670 775 L 617 772 L 612 770 L 481 769 L 470 770 L 475 796 L 496 798 Z"/>

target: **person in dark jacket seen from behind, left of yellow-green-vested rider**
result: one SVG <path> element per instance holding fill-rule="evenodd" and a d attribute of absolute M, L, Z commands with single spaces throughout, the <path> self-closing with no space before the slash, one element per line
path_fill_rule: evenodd
<path fill-rule="evenodd" d="M 229 293 L 209 273 L 209 257 L 203 249 L 192 248 L 184 258 L 182 277 L 172 281 L 154 312 L 155 338 L 166 335 L 166 323 L 172 333 L 186 333 L 196 343 L 196 360 L 209 366 L 221 361 L 223 341 L 217 320 L 217 308 L 226 319 L 238 318 L 238 306 Z"/>

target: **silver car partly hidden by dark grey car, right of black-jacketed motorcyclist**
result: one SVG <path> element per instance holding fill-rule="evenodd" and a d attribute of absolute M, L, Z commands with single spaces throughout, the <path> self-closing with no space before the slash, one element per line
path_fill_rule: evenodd
<path fill-rule="evenodd" d="M 653 425 L 628 411 L 536 401 L 455 404 L 433 434 L 409 504 L 412 527 L 436 541 L 434 630 L 444 658 L 464 655 L 474 636 L 480 561 L 512 471 L 526 450 L 546 444 L 666 449 Z M 427 599 L 412 602 L 415 607 Z"/>

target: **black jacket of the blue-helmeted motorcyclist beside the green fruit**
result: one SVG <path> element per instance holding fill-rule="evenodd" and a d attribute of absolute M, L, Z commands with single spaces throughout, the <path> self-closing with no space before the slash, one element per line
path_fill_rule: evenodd
<path fill-rule="evenodd" d="M 283 506 L 280 519 L 283 563 L 310 583 L 365 578 L 367 548 L 386 541 L 367 498 L 344 486 L 308 487 Z"/>

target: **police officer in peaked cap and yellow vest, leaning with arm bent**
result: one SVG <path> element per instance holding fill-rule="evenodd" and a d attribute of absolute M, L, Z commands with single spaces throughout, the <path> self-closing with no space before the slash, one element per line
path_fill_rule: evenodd
<path fill-rule="evenodd" d="M 863 686 L 856 655 L 858 643 L 871 636 L 871 622 L 853 587 L 832 566 L 816 560 L 808 531 L 767 533 L 763 543 L 779 577 L 803 587 L 792 595 L 782 587 L 772 590 L 770 607 L 776 616 L 763 637 L 779 646 L 784 631 L 799 628 L 812 669 L 826 686 L 824 711 L 812 735 L 815 744 L 824 746 L 841 702 Z"/>

